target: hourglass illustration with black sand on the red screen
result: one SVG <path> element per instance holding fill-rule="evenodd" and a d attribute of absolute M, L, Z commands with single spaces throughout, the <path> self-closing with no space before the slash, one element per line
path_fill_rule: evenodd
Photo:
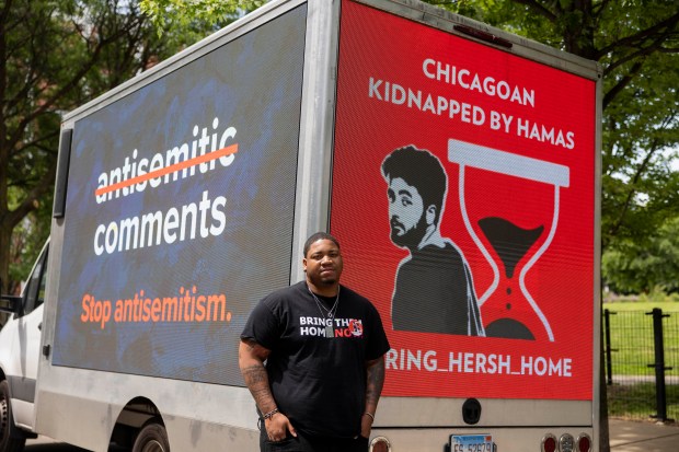
<path fill-rule="evenodd" d="M 568 167 L 454 139 L 448 141 L 448 160 L 460 166 L 458 186 L 462 220 L 493 273 L 490 286 L 479 297 L 479 306 L 483 306 L 482 317 L 487 322 L 486 336 L 518 339 L 546 337 L 554 341 L 550 322 L 540 309 L 540 300 L 533 299 L 528 290 L 526 278 L 550 247 L 556 233 L 560 188 L 567 188 L 569 185 Z M 493 186 L 494 190 L 507 189 L 511 193 L 504 194 L 505 198 L 486 193 L 483 202 L 468 207 L 465 190 L 471 193 L 477 189 L 476 186 L 467 187 L 470 169 L 473 169 L 476 175 L 496 177 L 519 188 L 515 192 L 502 185 Z M 550 201 L 553 200 L 553 210 L 549 209 L 550 206 L 548 210 L 531 210 L 533 206 L 545 204 L 542 199 L 531 204 L 530 198 L 540 194 L 548 194 Z M 508 199 L 507 196 L 513 204 L 511 208 L 494 206 L 503 202 L 499 199 Z M 528 228 L 526 224 L 519 225 L 521 213 L 527 210 L 531 212 L 525 217 L 529 217 L 533 223 L 537 217 L 542 216 L 536 224 Z M 473 213 L 470 215 L 470 211 Z M 496 212 L 502 212 L 502 216 Z M 549 216 L 551 224 L 546 228 Z"/>

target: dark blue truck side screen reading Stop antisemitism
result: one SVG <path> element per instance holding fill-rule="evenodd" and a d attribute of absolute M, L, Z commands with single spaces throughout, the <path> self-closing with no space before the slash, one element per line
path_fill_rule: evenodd
<path fill-rule="evenodd" d="M 53 363 L 242 384 L 289 283 L 306 7 L 74 125 Z"/>

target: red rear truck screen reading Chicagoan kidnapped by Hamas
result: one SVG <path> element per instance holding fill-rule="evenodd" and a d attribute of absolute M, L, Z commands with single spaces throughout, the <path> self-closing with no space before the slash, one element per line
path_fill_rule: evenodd
<path fill-rule="evenodd" d="M 384 395 L 591 399 L 596 83 L 342 3 L 331 232 Z"/>

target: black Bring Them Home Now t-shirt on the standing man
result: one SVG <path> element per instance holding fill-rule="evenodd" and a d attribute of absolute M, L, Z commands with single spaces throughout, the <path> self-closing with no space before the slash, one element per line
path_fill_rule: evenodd
<path fill-rule="evenodd" d="M 314 437 L 353 438 L 365 410 L 365 362 L 389 350 L 379 313 L 366 298 L 342 287 L 332 329 L 334 299 L 319 301 L 306 281 L 264 298 L 241 338 L 271 350 L 266 371 L 278 409 L 296 429 Z"/>

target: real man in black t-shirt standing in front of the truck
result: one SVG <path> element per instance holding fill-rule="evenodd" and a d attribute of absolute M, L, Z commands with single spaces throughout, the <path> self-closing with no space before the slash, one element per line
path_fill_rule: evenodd
<path fill-rule="evenodd" d="M 389 341 L 375 306 L 340 285 L 337 240 L 318 232 L 303 253 L 306 280 L 265 297 L 241 334 L 260 449 L 367 452 Z"/>

